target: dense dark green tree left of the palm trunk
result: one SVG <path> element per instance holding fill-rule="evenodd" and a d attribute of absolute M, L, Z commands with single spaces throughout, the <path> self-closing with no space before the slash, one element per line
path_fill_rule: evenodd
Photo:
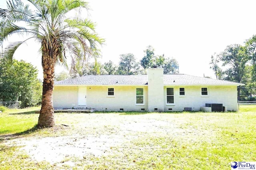
<path fill-rule="evenodd" d="M 2 101 L 18 102 L 21 107 L 36 106 L 42 100 L 42 82 L 38 70 L 25 61 L 13 60 L 12 67 L 1 59 L 0 95 Z"/>

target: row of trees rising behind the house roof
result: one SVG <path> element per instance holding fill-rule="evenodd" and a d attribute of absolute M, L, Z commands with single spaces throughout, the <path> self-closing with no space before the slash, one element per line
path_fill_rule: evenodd
<path fill-rule="evenodd" d="M 77 76 L 86 75 L 133 75 L 133 74 L 147 74 L 146 69 L 153 65 L 159 68 L 164 68 L 164 74 L 176 74 L 179 72 L 179 65 L 176 59 L 169 58 L 163 55 L 155 55 L 154 48 L 148 46 L 144 50 L 144 57 L 137 62 L 132 53 L 121 54 L 118 65 L 113 61 L 108 61 L 104 64 L 99 62 L 86 63 L 81 66 L 80 63 L 72 62 L 70 74 L 60 72 L 56 75 L 56 80 L 64 80 L 66 78 L 74 78 Z"/>

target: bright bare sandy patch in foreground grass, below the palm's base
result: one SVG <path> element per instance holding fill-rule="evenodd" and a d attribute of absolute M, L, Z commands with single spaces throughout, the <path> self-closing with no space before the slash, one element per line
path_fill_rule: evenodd
<path fill-rule="evenodd" d="M 101 135 L 100 137 L 44 137 L 41 139 L 14 139 L 12 145 L 22 146 L 30 157 L 37 161 L 46 160 L 51 164 L 61 162 L 66 156 L 83 159 L 84 155 L 96 157 L 109 154 L 110 147 L 117 145 L 121 137 L 118 135 Z"/>

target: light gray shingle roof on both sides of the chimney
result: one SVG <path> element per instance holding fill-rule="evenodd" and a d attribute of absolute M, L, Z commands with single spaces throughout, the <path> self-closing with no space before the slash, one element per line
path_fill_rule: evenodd
<path fill-rule="evenodd" d="M 145 85 L 147 75 L 89 75 L 55 82 L 55 85 Z M 187 74 L 164 74 L 164 85 L 244 85 Z"/>

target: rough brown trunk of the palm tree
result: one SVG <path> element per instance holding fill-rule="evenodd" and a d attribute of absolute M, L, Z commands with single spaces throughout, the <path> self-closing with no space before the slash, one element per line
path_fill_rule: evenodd
<path fill-rule="evenodd" d="M 42 107 L 38 118 L 38 127 L 52 127 L 54 122 L 54 108 L 52 104 L 52 91 L 54 88 L 54 67 L 56 56 L 47 44 L 42 46 L 42 66 L 44 72 Z"/>

